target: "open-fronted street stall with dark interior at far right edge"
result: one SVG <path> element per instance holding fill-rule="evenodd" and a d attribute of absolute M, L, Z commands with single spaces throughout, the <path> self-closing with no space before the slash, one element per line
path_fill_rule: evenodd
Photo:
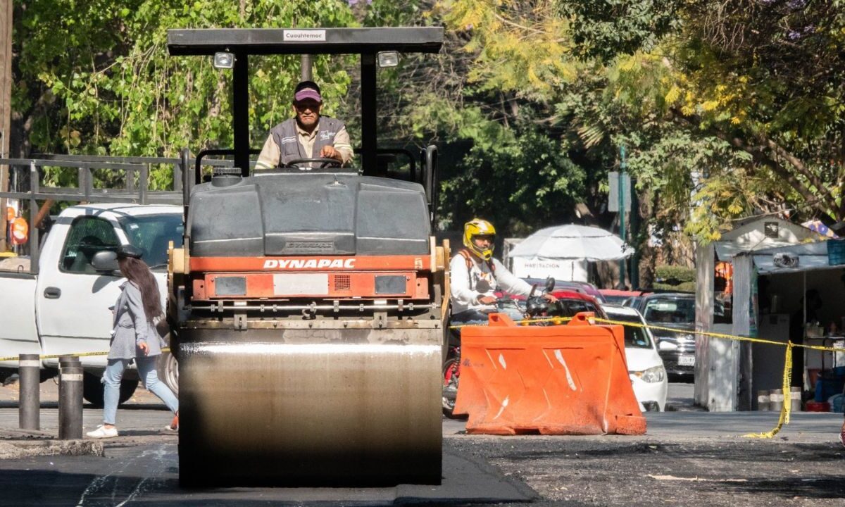
<path fill-rule="evenodd" d="M 829 411 L 828 400 L 842 394 L 845 382 L 845 240 L 767 248 L 750 257 L 759 277 L 761 338 L 843 349 L 793 349 L 792 385 L 806 393 L 807 409 Z M 782 388 L 783 352 L 777 346 L 752 346 L 753 409 L 762 408 L 759 401 L 765 404 L 766 391 Z"/>

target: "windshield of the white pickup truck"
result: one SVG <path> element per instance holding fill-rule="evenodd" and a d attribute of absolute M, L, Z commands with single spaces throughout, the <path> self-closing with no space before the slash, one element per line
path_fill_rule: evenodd
<path fill-rule="evenodd" d="M 167 248 L 170 242 L 173 242 L 173 248 L 182 247 L 185 230 L 182 215 L 123 216 L 117 221 L 126 232 L 129 243 L 141 249 L 141 259 L 144 259 L 150 268 L 167 265 Z"/>

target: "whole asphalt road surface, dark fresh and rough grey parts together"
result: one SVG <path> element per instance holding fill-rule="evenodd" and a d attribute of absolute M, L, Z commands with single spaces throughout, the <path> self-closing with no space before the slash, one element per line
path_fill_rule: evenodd
<path fill-rule="evenodd" d="M 675 393 L 679 403 L 684 392 Z M 649 413 L 648 433 L 638 437 L 467 435 L 461 421 L 444 420 L 440 486 L 185 490 L 177 482 L 178 437 L 161 432 L 169 416 L 150 401 L 139 393 L 119 412 L 122 435 L 104 442 L 103 457 L 0 460 L 3 504 L 845 505 L 837 414 L 793 414 L 774 439 L 742 435 L 774 427 L 775 412 Z M 0 401 L 0 428 L 17 426 L 14 405 Z M 32 440 L 55 432 L 56 410 L 45 405 L 45 432 Z M 100 416 L 87 407 L 86 427 Z M 22 434 L 0 430 L 5 439 Z"/>

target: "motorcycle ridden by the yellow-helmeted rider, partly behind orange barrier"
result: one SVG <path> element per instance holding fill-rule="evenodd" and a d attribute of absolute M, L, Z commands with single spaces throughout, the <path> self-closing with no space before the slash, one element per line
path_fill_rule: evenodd
<path fill-rule="evenodd" d="M 549 303 L 543 296 L 554 290 L 554 279 L 548 277 L 546 286 L 542 292 L 535 295 L 537 285 L 532 286 L 523 307 L 520 303 L 510 297 L 500 297 L 496 300 L 496 309 L 499 313 L 508 308 L 517 308 L 524 319 L 537 319 L 538 317 L 560 317 L 564 316 L 564 308 L 560 303 Z M 553 325 L 552 322 L 537 322 L 531 325 Z M 458 395 L 458 382 L 461 379 L 461 330 L 452 329 L 449 332 L 449 347 L 446 353 L 446 360 L 443 363 L 443 414 L 450 419 L 459 418 L 455 416 L 455 399 Z"/>

